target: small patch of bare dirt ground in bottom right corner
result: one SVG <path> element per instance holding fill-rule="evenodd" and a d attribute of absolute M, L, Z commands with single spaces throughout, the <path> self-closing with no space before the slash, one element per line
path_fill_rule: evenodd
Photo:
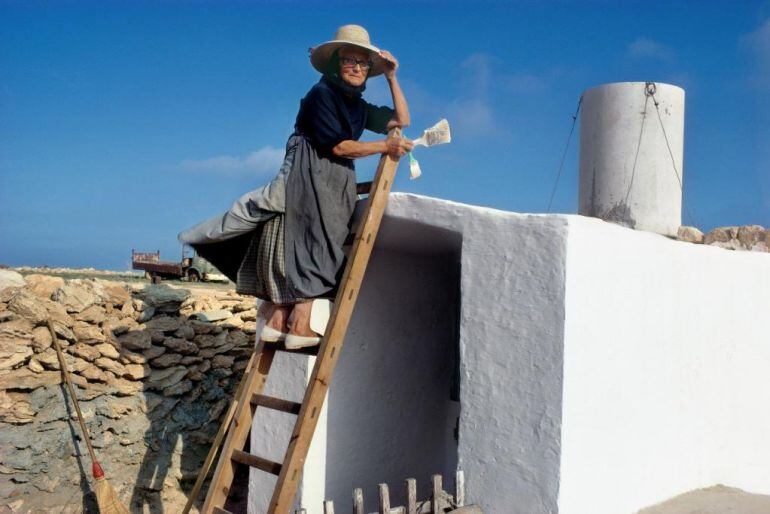
<path fill-rule="evenodd" d="M 638 514 L 770 514 L 770 496 L 717 485 L 690 491 Z"/>

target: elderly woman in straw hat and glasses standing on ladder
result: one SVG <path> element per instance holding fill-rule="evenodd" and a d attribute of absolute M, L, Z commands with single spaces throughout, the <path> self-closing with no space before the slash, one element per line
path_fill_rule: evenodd
<path fill-rule="evenodd" d="M 285 341 L 287 348 L 318 344 L 323 333 L 325 320 L 315 322 L 323 315 L 316 314 L 314 300 L 333 296 L 341 278 L 342 245 L 356 202 L 353 160 L 400 157 L 412 149 L 403 138 L 359 141 L 364 129 L 387 134 L 409 125 L 398 61 L 373 46 L 363 27 L 340 27 L 332 41 L 311 50 L 310 62 L 323 76 L 300 102 L 278 175 L 225 214 L 179 235 L 238 292 L 264 300 L 261 339 Z M 361 97 L 367 79 L 382 73 L 394 109 Z"/>

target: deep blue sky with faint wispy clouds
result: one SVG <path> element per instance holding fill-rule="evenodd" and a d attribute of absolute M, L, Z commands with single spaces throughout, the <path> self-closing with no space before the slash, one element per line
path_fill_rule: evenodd
<path fill-rule="evenodd" d="M 687 91 L 684 221 L 770 225 L 770 1 L 0 2 L 0 263 L 176 257 L 275 173 L 307 49 L 345 23 L 400 60 L 407 135 L 452 124 L 395 190 L 545 212 L 581 92 L 652 80 Z M 577 211 L 577 143 L 555 212 Z"/>

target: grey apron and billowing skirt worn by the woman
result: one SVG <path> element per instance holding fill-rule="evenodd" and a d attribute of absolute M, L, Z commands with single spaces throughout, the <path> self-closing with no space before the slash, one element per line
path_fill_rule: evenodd
<path fill-rule="evenodd" d="M 342 245 L 355 202 L 352 163 L 320 155 L 295 134 L 273 181 L 179 239 L 240 293 L 278 304 L 329 297 L 344 268 Z"/>

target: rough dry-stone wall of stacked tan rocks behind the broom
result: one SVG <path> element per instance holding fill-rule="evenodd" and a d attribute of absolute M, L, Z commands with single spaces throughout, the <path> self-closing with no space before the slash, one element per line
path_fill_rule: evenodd
<path fill-rule="evenodd" d="M 20 278 L 0 270 L 0 511 L 96 511 L 48 319 L 120 498 L 132 512 L 180 511 L 253 349 L 254 300 L 204 287 Z M 195 319 L 214 310 L 226 317 Z"/>

